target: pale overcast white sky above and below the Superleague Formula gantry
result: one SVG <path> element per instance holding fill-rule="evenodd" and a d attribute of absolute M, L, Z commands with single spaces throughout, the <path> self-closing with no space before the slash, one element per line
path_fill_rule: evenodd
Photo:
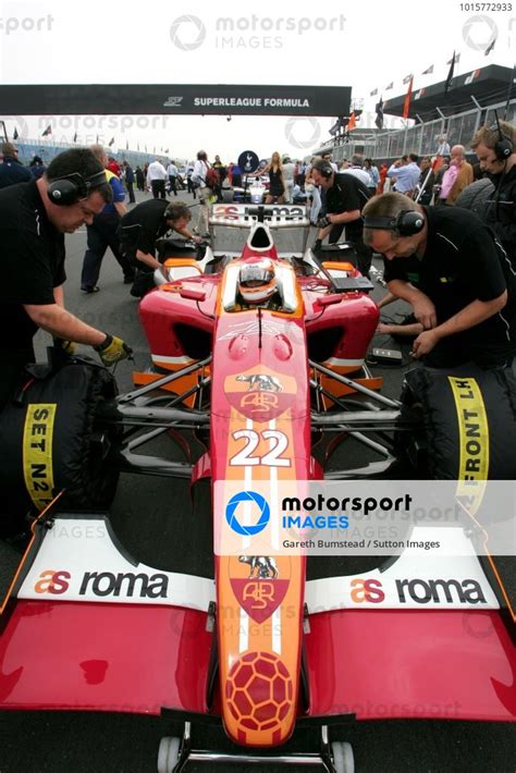
<path fill-rule="evenodd" d="M 364 109 L 361 125 L 372 125 L 377 96 L 404 94 L 446 78 L 446 62 L 460 54 L 455 75 L 488 64 L 514 66 L 516 3 L 513 11 L 475 11 L 488 3 L 450 0 L 271 0 L 250 5 L 225 0 L 121 3 L 88 0 L 3 2 L 0 0 L 0 82 L 2 84 L 235 84 L 351 86 Z M 507 3 L 491 5 L 511 8 Z M 493 50 L 484 54 L 496 38 Z M 433 65 L 433 73 L 422 72 Z M 386 86 L 394 82 L 391 90 Z M 336 116 L 335 110 L 335 116 Z M 334 118 L 290 116 L 7 116 L 23 138 L 109 143 L 169 156 L 235 160 L 253 149 L 302 158 L 329 137 Z M 385 124 L 400 121 L 385 116 Z"/>

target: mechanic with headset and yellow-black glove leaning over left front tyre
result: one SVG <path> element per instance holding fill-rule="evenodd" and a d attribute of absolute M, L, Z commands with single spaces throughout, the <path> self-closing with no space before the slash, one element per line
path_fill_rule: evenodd
<path fill-rule="evenodd" d="M 39 180 L 0 191 L 0 405 L 15 394 L 25 366 L 35 361 L 38 328 L 69 352 L 72 342 L 93 346 L 105 365 L 131 354 L 121 339 L 64 308 L 64 234 L 91 223 L 110 196 L 102 164 L 85 148 L 57 156 Z"/>

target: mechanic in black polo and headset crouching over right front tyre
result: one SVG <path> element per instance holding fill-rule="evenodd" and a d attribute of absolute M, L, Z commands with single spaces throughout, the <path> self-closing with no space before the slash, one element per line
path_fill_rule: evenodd
<path fill-rule="evenodd" d="M 496 235 L 469 210 L 421 207 L 398 193 L 364 208 L 364 238 L 425 330 L 414 356 L 435 368 L 506 367 L 516 352 L 516 275 Z"/>

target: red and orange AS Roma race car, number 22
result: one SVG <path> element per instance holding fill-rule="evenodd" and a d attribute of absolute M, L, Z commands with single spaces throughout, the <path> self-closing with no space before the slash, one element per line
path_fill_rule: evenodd
<path fill-rule="evenodd" d="M 502 458 L 496 443 L 507 442 L 514 412 L 505 401 L 506 412 L 491 417 L 514 385 L 508 377 L 416 375 L 403 400 L 382 395 L 365 361 L 379 312 L 370 283 L 346 260 L 348 245 L 315 255 L 303 207 L 217 205 L 210 232 L 204 258 L 169 258 L 140 303 L 151 367 L 135 373 L 133 391 L 115 395 L 102 369 L 67 360 L 12 409 L 19 478 L 42 512 L 2 608 L 0 705 L 184 721 L 182 737 L 161 741 L 161 773 L 188 760 L 263 763 L 263 754 L 267 764 L 351 773 L 342 739 L 351 721 L 434 717 L 445 705 L 450 719 L 514 721 L 513 604 L 500 561 L 479 557 L 477 510 L 475 519 L 466 508 L 458 520 L 410 525 L 415 544 L 431 539 L 451 552 L 421 555 L 405 542 L 329 560 L 329 574 L 305 547 L 281 544 L 271 515 L 279 491 L 308 501 L 311 487 L 331 481 L 353 491 L 361 481 L 372 496 L 388 479 L 406 486 L 432 471 L 452 481 L 509 478 L 514 455 Z M 52 406 L 81 404 L 77 390 L 89 395 L 82 425 L 72 407 L 58 425 Z M 49 447 L 72 425 L 75 442 L 58 469 Z M 441 435 L 454 433 L 464 440 L 456 458 L 442 453 Z M 184 461 L 140 453 L 160 435 Z M 352 440 L 373 461 L 346 454 Z M 138 563 L 107 513 L 84 512 L 109 471 L 95 501 L 108 506 L 124 470 L 188 480 L 193 493 L 209 483 L 209 576 Z M 309 531 L 297 530 L 298 541 Z M 472 636 L 478 625 L 494 634 Z M 37 658 L 35 639 L 46 642 Z M 193 749 L 192 726 L 202 721 L 223 724 L 231 753 Z M 318 748 L 283 753 L 310 726 Z"/>

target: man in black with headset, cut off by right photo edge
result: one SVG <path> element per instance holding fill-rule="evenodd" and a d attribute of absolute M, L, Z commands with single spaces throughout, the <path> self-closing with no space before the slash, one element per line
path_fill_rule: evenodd
<path fill-rule="evenodd" d="M 516 266 L 516 128 L 505 121 L 482 126 L 471 140 L 480 169 L 494 185 L 486 221 Z"/>

